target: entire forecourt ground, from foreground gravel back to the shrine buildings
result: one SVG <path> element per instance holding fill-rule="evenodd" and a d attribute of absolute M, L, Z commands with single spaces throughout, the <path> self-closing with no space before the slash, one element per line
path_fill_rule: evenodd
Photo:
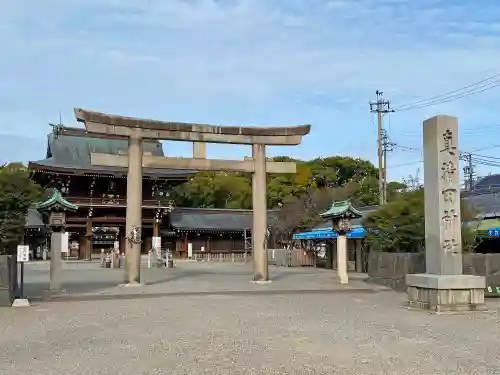
<path fill-rule="evenodd" d="M 0 310 L 0 374 L 500 373 L 498 301 L 435 316 L 359 280 L 346 293 L 326 270 L 273 268 L 257 286 L 249 266 L 215 263 L 150 270 L 140 293 L 112 286 L 120 272 L 72 267 L 80 301 Z"/>

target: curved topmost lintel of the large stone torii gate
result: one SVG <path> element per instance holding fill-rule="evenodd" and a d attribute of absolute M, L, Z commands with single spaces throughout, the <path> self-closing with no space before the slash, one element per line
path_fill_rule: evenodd
<path fill-rule="evenodd" d="M 309 134 L 311 125 L 297 126 L 218 126 L 183 122 L 164 122 L 109 115 L 75 108 L 75 116 L 88 133 L 105 136 L 139 136 L 187 142 L 298 145 Z"/>

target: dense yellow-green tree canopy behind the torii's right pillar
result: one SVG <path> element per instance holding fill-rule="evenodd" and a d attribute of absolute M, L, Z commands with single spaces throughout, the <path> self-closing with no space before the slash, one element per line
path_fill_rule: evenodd
<path fill-rule="evenodd" d="M 360 190 L 362 204 L 373 204 L 378 198 L 377 169 L 372 163 L 345 156 L 295 160 L 287 156 L 274 161 L 295 161 L 296 174 L 269 174 L 268 207 L 277 208 L 294 198 L 310 195 L 324 188 L 349 186 Z M 211 208 L 251 208 L 252 179 L 249 173 L 200 172 L 174 189 L 179 206 Z"/>

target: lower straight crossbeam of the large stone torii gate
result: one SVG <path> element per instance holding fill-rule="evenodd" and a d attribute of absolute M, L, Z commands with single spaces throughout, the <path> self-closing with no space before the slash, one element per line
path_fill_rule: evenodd
<path fill-rule="evenodd" d="M 128 167 L 127 155 L 92 153 L 90 161 L 94 166 Z M 255 172 L 255 162 L 252 160 L 166 158 L 162 156 L 143 155 L 142 166 L 144 168 L 192 171 L 223 170 L 228 172 Z M 267 161 L 266 172 L 293 174 L 297 172 L 297 166 L 294 162 Z"/>

